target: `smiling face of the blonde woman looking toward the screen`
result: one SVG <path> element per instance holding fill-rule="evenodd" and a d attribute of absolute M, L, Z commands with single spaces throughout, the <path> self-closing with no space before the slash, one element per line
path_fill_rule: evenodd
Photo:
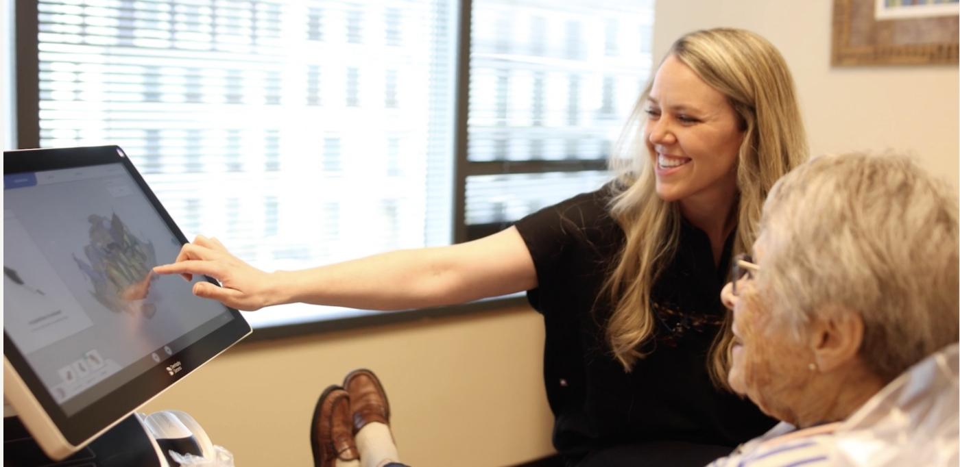
<path fill-rule="evenodd" d="M 660 65 L 644 108 L 644 139 L 666 201 L 727 198 L 736 190 L 743 131 L 726 96 L 682 61 Z"/>

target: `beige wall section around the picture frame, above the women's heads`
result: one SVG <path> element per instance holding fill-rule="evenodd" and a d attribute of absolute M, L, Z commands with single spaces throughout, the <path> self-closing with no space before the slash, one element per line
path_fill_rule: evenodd
<path fill-rule="evenodd" d="M 774 43 L 797 82 L 813 154 L 895 150 L 957 186 L 956 65 L 830 66 L 828 0 L 660 0 L 654 50 L 717 26 L 745 28 Z"/>

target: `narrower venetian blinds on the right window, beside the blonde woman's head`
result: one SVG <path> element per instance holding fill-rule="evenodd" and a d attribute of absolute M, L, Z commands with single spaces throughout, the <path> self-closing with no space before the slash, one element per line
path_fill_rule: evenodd
<path fill-rule="evenodd" d="M 468 237 L 600 187 L 650 76 L 653 1 L 473 0 Z"/>

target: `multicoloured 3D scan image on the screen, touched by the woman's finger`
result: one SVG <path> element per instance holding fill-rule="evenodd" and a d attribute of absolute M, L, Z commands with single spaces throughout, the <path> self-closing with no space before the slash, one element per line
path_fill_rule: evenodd
<path fill-rule="evenodd" d="M 153 317 L 156 299 L 148 299 L 150 284 L 156 278 L 154 244 L 136 238 L 120 218 L 92 214 L 90 244 L 84 246 L 84 263 L 74 255 L 87 278 L 93 284 L 97 301 L 116 313 L 142 314 Z"/>

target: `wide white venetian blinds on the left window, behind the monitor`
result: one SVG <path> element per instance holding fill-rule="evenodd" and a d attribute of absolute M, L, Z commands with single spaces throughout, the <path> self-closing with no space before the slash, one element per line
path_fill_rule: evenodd
<path fill-rule="evenodd" d="M 188 238 L 216 236 L 261 269 L 448 244 L 456 13 L 448 0 L 41 0 L 40 147 L 119 145 Z"/>

